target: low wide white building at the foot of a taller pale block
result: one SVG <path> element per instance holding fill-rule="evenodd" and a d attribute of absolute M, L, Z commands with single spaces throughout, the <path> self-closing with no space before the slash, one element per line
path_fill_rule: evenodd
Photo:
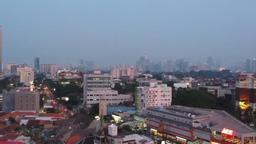
<path fill-rule="evenodd" d="M 130 101 L 131 95 L 118 94 L 118 91 L 113 90 L 95 90 L 88 91 L 87 97 L 84 99 L 88 107 L 92 104 L 100 103 L 100 100 L 106 100 L 107 105 L 118 105 L 119 103 L 124 103 L 124 101 Z"/>

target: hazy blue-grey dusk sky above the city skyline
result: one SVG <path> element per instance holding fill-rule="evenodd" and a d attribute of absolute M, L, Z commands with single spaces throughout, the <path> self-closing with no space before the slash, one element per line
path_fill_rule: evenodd
<path fill-rule="evenodd" d="M 256 1 L 0 1 L 3 63 L 256 57 Z"/>

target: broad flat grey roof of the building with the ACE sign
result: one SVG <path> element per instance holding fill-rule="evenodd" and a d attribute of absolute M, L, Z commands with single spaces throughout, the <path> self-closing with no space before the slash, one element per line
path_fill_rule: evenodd
<path fill-rule="evenodd" d="M 149 107 L 149 110 L 158 110 L 158 107 Z M 161 111 L 161 110 L 158 110 Z M 255 133 L 251 127 L 239 121 L 236 117 L 222 110 L 202 109 L 188 106 L 168 106 L 164 107 L 164 112 L 176 113 L 177 115 L 193 117 L 193 122 L 211 123 L 211 131 L 222 131 L 224 128 L 233 130 L 234 133 L 244 135 Z M 192 116 L 194 115 L 194 116 Z"/>

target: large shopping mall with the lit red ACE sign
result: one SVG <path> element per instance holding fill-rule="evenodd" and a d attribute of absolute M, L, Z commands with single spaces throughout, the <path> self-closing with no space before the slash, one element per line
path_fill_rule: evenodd
<path fill-rule="evenodd" d="M 256 131 L 229 113 L 185 106 L 149 107 L 147 136 L 173 143 L 254 143 Z"/>

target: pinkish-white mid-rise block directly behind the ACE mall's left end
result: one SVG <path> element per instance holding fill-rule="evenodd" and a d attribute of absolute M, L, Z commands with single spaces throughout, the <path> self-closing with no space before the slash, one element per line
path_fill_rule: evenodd
<path fill-rule="evenodd" d="M 135 103 L 138 115 L 146 115 L 149 106 L 171 105 L 172 88 L 158 83 L 150 83 L 149 87 L 136 87 Z"/>

